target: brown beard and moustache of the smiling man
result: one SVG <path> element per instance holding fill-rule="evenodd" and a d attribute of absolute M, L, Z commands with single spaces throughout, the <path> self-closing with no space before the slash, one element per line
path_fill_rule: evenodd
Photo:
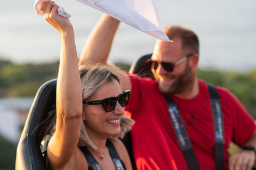
<path fill-rule="evenodd" d="M 185 71 L 178 77 L 174 75 L 167 75 L 168 78 L 175 79 L 171 85 L 163 85 L 161 81 L 158 80 L 159 90 L 170 95 L 181 94 L 185 91 L 191 91 L 194 83 L 194 72 L 191 70 L 190 66 L 187 64 Z"/>

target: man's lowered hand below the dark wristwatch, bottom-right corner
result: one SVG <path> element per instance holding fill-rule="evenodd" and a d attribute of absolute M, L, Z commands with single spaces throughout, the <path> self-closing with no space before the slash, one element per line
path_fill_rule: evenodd
<path fill-rule="evenodd" d="M 255 163 L 255 152 L 253 150 L 244 150 L 231 158 L 230 170 L 251 170 Z"/>

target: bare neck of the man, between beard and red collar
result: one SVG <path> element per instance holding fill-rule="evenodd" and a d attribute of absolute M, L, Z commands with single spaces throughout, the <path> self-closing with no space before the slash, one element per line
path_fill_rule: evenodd
<path fill-rule="evenodd" d="M 180 93 L 180 94 L 174 94 L 173 96 L 182 98 L 182 99 L 193 99 L 195 98 L 199 93 L 199 84 L 198 80 L 195 79 L 194 83 L 191 84 L 191 87 L 187 89 L 186 91 Z"/>

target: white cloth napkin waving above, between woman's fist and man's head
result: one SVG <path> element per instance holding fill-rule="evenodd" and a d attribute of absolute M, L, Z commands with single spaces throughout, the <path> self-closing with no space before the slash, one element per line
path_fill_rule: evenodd
<path fill-rule="evenodd" d="M 155 0 L 76 0 L 149 35 L 169 41 L 162 31 Z"/>

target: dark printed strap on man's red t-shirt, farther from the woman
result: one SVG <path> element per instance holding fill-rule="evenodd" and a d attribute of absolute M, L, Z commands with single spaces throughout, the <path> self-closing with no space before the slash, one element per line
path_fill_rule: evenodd
<path fill-rule="evenodd" d="M 224 169 L 224 131 L 222 111 L 217 89 L 211 84 L 207 85 L 211 96 L 211 106 L 215 134 L 215 169 L 221 170 Z"/>

